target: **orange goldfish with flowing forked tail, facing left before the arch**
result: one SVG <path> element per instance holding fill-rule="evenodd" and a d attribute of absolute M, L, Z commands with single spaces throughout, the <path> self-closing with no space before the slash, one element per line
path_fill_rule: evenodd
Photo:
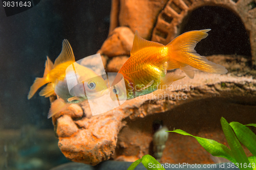
<path fill-rule="evenodd" d="M 210 29 L 186 32 L 167 45 L 147 41 L 136 31 L 131 56 L 112 83 L 112 100 L 126 100 L 126 97 L 130 100 L 152 92 L 165 94 L 170 84 L 184 78 L 167 73 L 170 69 L 180 68 L 190 79 L 194 78 L 191 67 L 210 74 L 226 74 L 224 66 L 208 61 L 194 50 L 196 44 L 207 37 L 208 31 Z M 125 87 L 118 85 L 122 77 Z"/>

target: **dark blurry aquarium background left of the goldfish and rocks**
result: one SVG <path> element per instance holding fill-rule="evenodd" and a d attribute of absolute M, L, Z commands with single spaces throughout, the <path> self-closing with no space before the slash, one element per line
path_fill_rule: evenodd
<path fill-rule="evenodd" d="M 49 98 L 27 99 L 46 56 L 68 39 L 79 60 L 96 54 L 109 33 L 111 1 L 40 1 L 7 17 L 0 3 L 0 169 L 49 169 L 68 160 L 58 149 Z"/>

